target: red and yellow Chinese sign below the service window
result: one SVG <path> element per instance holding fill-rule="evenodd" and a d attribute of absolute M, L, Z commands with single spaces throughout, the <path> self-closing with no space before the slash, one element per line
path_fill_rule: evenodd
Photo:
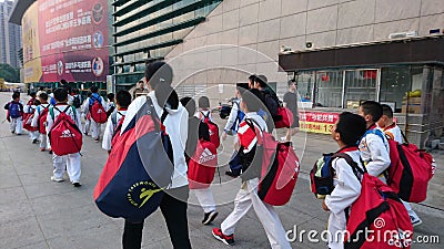
<path fill-rule="evenodd" d="M 310 133 L 330 134 L 337 122 L 339 113 L 300 112 L 300 129 Z"/>

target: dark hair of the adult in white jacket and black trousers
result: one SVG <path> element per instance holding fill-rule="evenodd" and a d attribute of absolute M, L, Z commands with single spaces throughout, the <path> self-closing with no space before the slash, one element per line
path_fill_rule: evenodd
<path fill-rule="evenodd" d="M 173 70 L 163 61 L 155 61 L 147 64 L 145 77 L 151 87 L 155 90 L 159 84 L 171 85 L 173 81 Z"/>

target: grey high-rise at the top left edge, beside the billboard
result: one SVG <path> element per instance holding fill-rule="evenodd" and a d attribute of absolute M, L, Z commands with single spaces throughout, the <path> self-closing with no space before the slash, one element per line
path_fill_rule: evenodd
<path fill-rule="evenodd" d="M 12 1 L 0 2 L 0 63 L 19 69 L 21 66 L 19 59 L 21 29 L 20 25 L 9 22 L 12 6 Z"/>

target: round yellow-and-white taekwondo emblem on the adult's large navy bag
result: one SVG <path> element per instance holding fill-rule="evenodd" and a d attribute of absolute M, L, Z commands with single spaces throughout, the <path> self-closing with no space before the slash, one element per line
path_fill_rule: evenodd
<path fill-rule="evenodd" d="M 138 181 L 128 189 L 128 201 L 137 208 L 143 207 L 143 205 L 158 191 L 161 191 L 152 181 Z"/>

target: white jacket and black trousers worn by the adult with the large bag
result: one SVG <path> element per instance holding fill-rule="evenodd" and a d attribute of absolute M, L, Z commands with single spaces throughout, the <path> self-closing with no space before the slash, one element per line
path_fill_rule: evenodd
<path fill-rule="evenodd" d="M 158 116 L 161 117 L 164 108 L 159 106 L 154 91 L 151 91 L 148 95 L 152 100 Z M 121 133 L 123 133 L 125 127 L 145 102 L 147 96 L 139 96 L 130 104 L 122 124 Z M 191 242 L 188 229 L 186 201 L 190 190 L 186 177 L 188 165 L 184 155 L 188 138 L 189 114 L 180 103 L 176 110 L 170 110 L 167 107 L 165 110 L 168 115 L 163 121 L 163 125 L 165 126 L 165 133 L 170 136 L 173 148 L 174 173 L 170 186 L 165 189 L 167 194 L 162 198 L 160 210 L 165 219 L 173 248 L 189 249 L 191 248 Z M 140 222 L 130 222 L 127 220 L 122 238 L 123 248 L 125 248 L 125 246 L 140 247 L 142 230 L 143 220 Z"/>

